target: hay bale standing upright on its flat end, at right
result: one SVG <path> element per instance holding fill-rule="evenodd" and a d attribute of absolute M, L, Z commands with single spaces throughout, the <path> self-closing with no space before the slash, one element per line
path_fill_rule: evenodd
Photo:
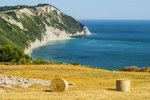
<path fill-rule="evenodd" d="M 130 81 L 129 80 L 116 80 L 116 90 L 122 92 L 130 91 Z"/>

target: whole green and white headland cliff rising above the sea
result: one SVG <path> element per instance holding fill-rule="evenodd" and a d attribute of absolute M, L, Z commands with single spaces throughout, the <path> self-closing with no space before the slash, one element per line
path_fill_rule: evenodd
<path fill-rule="evenodd" d="M 51 40 L 87 34 L 85 25 L 52 5 L 0 7 L 0 45 L 11 44 L 26 54 Z"/>

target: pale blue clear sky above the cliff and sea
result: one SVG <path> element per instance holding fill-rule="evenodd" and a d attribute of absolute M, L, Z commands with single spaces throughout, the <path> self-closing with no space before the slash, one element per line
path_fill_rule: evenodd
<path fill-rule="evenodd" d="M 76 19 L 150 20 L 150 0 L 0 0 L 0 6 L 49 3 Z"/>

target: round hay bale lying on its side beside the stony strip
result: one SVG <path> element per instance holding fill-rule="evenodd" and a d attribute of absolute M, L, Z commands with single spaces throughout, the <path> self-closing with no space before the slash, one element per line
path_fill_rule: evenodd
<path fill-rule="evenodd" d="M 64 92 L 69 88 L 69 83 L 62 78 L 56 78 L 51 80 L 50 88 L 52 92 Z"/>

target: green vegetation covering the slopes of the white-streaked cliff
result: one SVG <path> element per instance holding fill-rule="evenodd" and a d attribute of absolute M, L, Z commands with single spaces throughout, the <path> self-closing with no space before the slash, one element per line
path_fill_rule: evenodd
<path fill-rule="evenodd" d="M 46 25 L 65 30 L 71 34 L 83 30 L 84 25 L 64 13 L 59 15 L 57 8 L 57 10 L 49 13 L 39 14 L 40 11 L 36 7 L 44 6 L 51 5 L 39 4 L 38 6 L 17 5 L 0 7 L 0 46 L 9 44 L 20 51 L 24 51 L 29 46 L 29 41 L 34 42 L 36 39 L 42 40 L 43 34 L 46 31 Z M 27 8 L 33 15 L 18 13 L 23 8 Z M 8 21 L 9 19 L 22 24 L 23 29 L 19 25 L 11 24 Z"/>

